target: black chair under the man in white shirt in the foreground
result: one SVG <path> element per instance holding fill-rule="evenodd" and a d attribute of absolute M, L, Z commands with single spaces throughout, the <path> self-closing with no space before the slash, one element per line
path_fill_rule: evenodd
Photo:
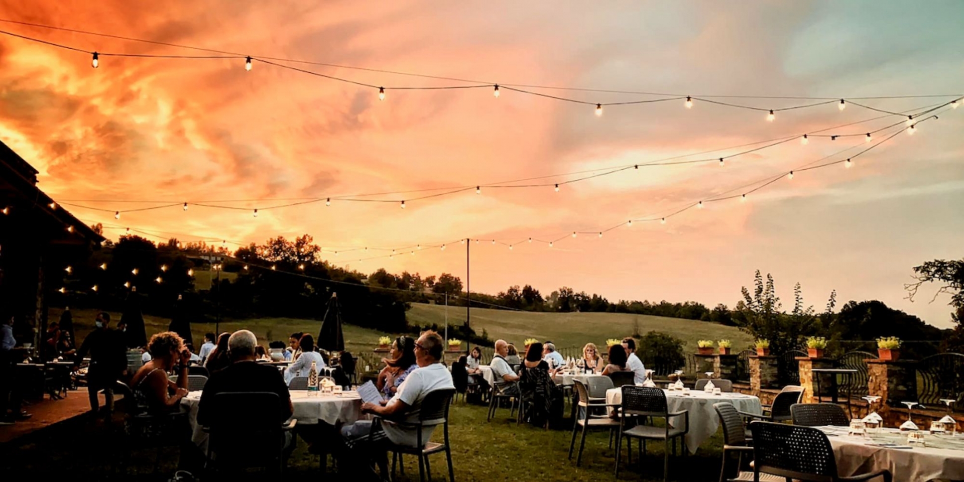
<path fill-rule="evenodd" d="M 429 465 L 428 456 L 435 453 L 445 452 L 445 459 L 448 463 L 448 480 L 449 482 L 455 482 L 455 470 L 452 467 L 452 449 L 448 442 L 448 407 L 451 404 L 452 397 L 455 396 L 455 393 L 454 388 L 442 388 L 428 392 L 418 407 L 418 421 L 416 422 L 391 420 L 379 416 L 375 417 L 375 424 L 393 424 L 399 427 L 415 428 L 417 431 L 417 435 L 415 437 L 417 442 L 415 447 L 396 444 L 388 445 L 388 450 L 394 452 L 394 457 L 392 457 L 391 464 L 392 479 L 395 478 L 395 463 L 402 454 L 407 454 L 418 457 L 419 480 L 421 482 L 431 480 L 432 467 Z M 439 425 L 442 425 L 443 442 L 429 442 L 425 440 L 423 430 L 426 428 L 437 427 Z M 375 430 L 376 427 L 373 426 L 372 431 L 374 432 Z"/>

